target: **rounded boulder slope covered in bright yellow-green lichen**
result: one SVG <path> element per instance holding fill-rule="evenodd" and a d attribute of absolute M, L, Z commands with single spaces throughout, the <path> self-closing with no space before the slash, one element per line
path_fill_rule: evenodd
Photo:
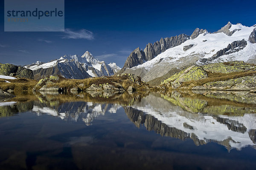
<path fill-rule="evenodd" d="M 196 81 L 207 78 L 207 72 L 200 66 L 190 66 L 187 69 L 176 73 L 172 77 L 166 79 L 161 84 L 166 84 L 172 89 L 177 89 L 185 81 Z"/>

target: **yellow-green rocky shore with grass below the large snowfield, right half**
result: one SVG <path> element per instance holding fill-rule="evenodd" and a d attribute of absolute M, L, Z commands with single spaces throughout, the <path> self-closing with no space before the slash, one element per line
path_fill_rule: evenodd
<path fill-rule="evenodd" d="M 161 89 L 256 90 L 256 66 L 233 61 L 204 66 L 192 65 L 161 82 Z"/>

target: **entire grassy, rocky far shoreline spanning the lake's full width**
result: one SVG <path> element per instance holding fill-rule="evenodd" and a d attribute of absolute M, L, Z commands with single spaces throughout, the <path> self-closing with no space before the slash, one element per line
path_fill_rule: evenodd
<path fill-rule="evenodd" d="M 23 90 L 105 93 L 131 93 L 141 90 L 216 90 L 256 93 L 256 65 L 243 61 L 192 65 L 162 81 L 158 86 L 149 86 L 139 76 L 126 73 L 81 80 L 67 79 L 59 75 L 49 75 L 40 81 L 17 77 L 8 82 L 0 80 L 0 100 L 14 97 L 9 92 Z"/>

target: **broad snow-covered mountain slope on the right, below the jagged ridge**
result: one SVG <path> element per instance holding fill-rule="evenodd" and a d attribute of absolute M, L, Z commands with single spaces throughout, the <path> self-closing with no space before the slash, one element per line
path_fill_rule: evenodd
<path fill-rule="evenodd" d="M 214 33 L 197 28 L 189 40 L 166 49 L 150 61 L 123 70 L 125 73 L 139 75 L 143 81 L 151 81 L 166 75 L 173 68 L 183 69 L 192 64 L 235 60 L 256 63 L 256 43 L 253 41 L 255 27 L 229 22 Z"/>

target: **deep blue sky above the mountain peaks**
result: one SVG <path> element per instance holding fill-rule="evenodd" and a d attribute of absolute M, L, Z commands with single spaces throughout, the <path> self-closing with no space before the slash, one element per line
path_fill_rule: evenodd
<path fill-rule="evenodd" d="M 0 0 L 0 63 L 25 65 L 89 51 L 100 61 L 123 66 L 138 46 L 161 37 L 214 32 L 226 25 L 256 24 L 256 1 L 65 0 L 65 32 L 4 32 Z"/>

